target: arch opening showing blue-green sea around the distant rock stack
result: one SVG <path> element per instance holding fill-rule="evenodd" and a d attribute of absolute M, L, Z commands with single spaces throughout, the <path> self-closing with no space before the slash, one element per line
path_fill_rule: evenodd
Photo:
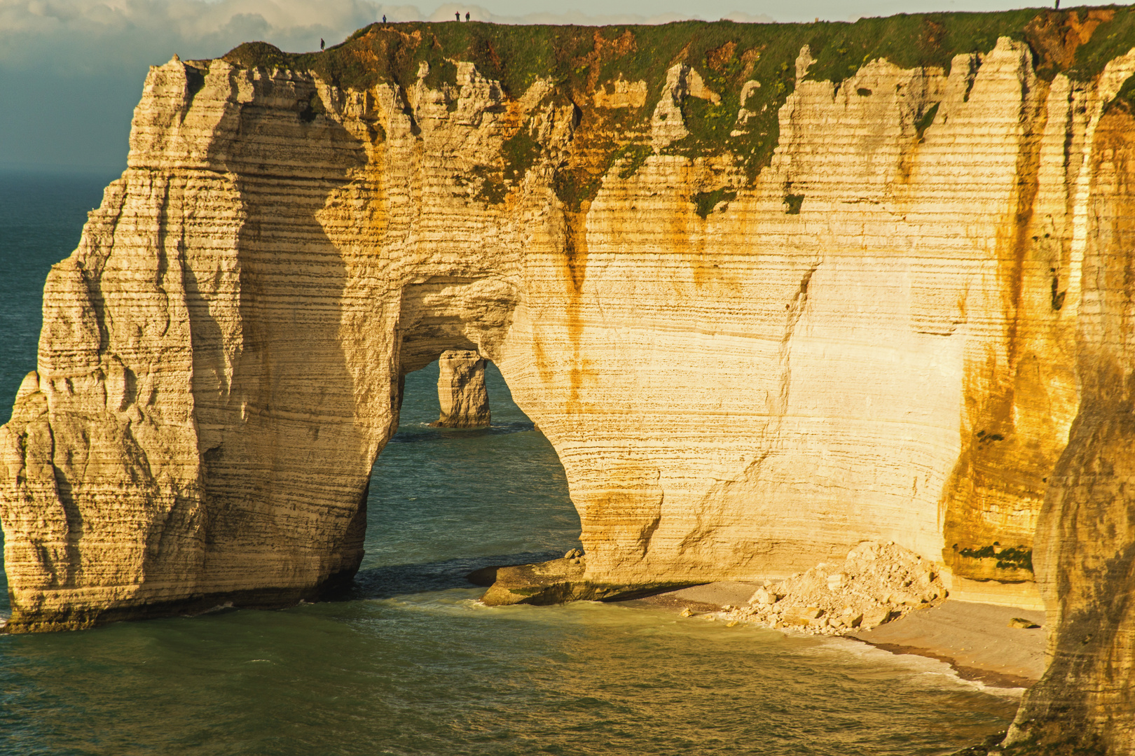
<path fill-rule="evenodd" d="M 438 360 L 405 376 L 398 430 L 371 472 L 353 595 L 479 596 L 485 588 L 470 574 L 579 547 L 579 515 L 560 458 L 513 402 L 499 369 L 486 363 L 484 371 L 491 419 L 472 428 L 437 424 L 444 417 Z"/>

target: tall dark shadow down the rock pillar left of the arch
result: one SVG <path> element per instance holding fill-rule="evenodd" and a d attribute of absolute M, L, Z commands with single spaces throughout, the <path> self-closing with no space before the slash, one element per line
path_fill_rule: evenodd
<path fill-rule="evenodd" d="M 363 190 L 365 145 L 336 118 L 311 116 L 319 94 L 305 77 L 225 75 L 233 86 L 254 83 L 255 99 L 209 145 L 210 168 L 235 177 L 237 254 L 221 272 L 202 254 L 186 274 L 208 502 L 202 583 L 245 574 L 258 591 L 342 580 L 363 555 L 371 461 L 360 451 L 372 431 L 355 423 L 340 331 L 348 260 L 358 245 L 377 246 L 342 201 Z M 272 549 L 247 561 L 264 542 Z M 278 593 L 264 588 L 264 602 L 287 601 Z"/>

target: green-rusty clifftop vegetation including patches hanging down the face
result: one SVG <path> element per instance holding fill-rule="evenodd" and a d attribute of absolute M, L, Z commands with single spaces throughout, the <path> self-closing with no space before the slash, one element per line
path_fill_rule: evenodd
<path fill-rule="evenodd" d="M 768 164 L 777 144 L 777 111 L 796 87 L 796 59 L 808 45 L 815 62 L 807 78 L 841 83 L 883 58 L 903 68 L 933 66 L 949 71 L 955 56 L 989 52 L 999 36 L 1026 42 L 1037 74 L 1063 71 L 1087 79 L 1107 61 L 1135 46 L 1135 9 L 1125 6 L 1070 10 L 1024 9 L 985 14 L 915 14 L 864 18 L 855 23 L 737 24 L 680 22 L 657 26 L 508 26 L 478 22 L 371 24 L 326 52 L 291 54 L 252 42 L 225 60 L 243 67 L 309 70 L 348 90 L 380 82 L 403 88 L 429 63 L 427 84 L 454 84 L 454 61 L 471 61 L 521 96 L 538 77 L 555 83 L 554 101 L 577 109 L 574 154 L 556 179 L 561 198 L 573 207 L 595 196 L 599 179 L 620 161 L 627 178 L 646 159 L 649 119 L 666 70 L 686 62 L 720 95 L 717 104 L 687 97 L 682 116 L 689 136 L 666 152 L 690 156 L 731 153 L 749 180 Z M 646 104 L 617 110 L 592 107 L 599 87 L 617 78 L 645 80 Z M 746 82 L 755 80 L 742 103 Z M 734 133 L 741 107 L 754 113 Z M 927 109 L 920 131 L 933 118 Z M 923 122 L 925 121 L 925 122 Z M 502 180 L 515 180 L 537 160 L 535 143 L 514 137 Z M 497 196 L 494 193 L 491 196 Z"/>

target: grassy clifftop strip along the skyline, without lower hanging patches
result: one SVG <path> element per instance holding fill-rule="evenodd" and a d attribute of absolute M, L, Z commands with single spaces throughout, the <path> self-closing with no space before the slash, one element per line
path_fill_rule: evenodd
<path fill-rule="evenodd" d="M 1096 31 L 1100 31 L 1096 34 Z M 470 61 L 520 96 L 537 77 L 550 76 L 573 93 L 591 92 L 619 75 L 665 80 L 675 62 L 699 63 L 714 83 L 740 85 L 785 79 L 802 45 L 815 65 L 809 79 L 840 80 L 864 62 L 885 58 L 903 68 L 949 69 L 953 56 L 987 52 L 999 36 L 1025 41 L 1037 56 L 1037 74 L 1094 76 L 1135 42 L 1135 8 L 1100 6 L 1050 10 L 1026 8 L 984 14 L 914 14 L 861 18 L 855 23 L 738 24 L 679 22 L 654 26 L 510 26 L 480 22 L 371 24 L 318 53 L 286 53 L 264 42 L 242 44 L 225 60 L 246 67 L 311 70 L 344 88 L 378 82 L 412 84 L 419 63 L 430 65 L 428 83 L 455 80 L 456 61 Z M 709 82 L 707 82 L 709 83 Z M 775 88 L 775 87 L 774 87 Z"/>

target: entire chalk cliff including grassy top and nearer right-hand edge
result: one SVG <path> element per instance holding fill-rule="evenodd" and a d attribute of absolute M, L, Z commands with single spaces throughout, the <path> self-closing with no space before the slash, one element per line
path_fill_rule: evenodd
<path fill-rule="evenodd" d="M 465 349 L 560 455 L 579 595 L 875 540 L 1027 602 L 1041 517 L 1015 737 L 1126 742 L 1133 24 L 400 25 L 153 68 L 0 430 L 9 629 L 348 579 L 401 377 Z"/>

